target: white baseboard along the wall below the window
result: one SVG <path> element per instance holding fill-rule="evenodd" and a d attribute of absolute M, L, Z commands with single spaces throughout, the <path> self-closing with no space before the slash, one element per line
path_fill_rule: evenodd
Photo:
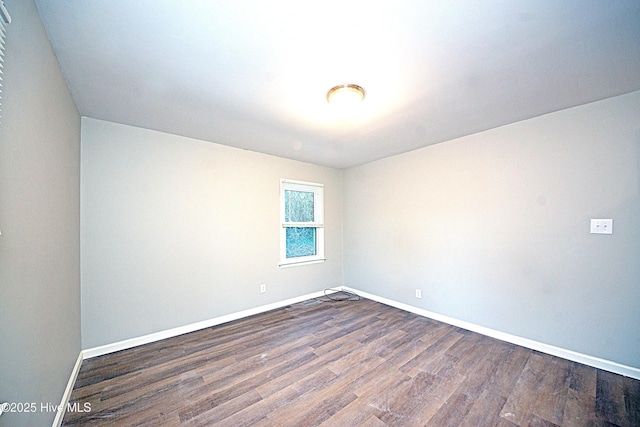
<path fill-rule="evenodd" d="M 287 305 L 296 304 L 311 298 L 318 298 L 321 296 L 324 296 L 323 291 L 314 292 L 311 294 L 290 298 L 288 300 L 278 301 L 272 304 L 262 305 L 256 308 L 250 308 L 248 310 L 239 311 L 237 313 L 231 313 L 225 316 L 215 317 L 213 319 L 204 320 L 202 322 L 180 326 L 178 328 L 167 329 L 165 331 L 155 332 L 153 334 L 144 335 L 141 337 L 130 338 L 130 339 L 127 339 L 124 341 L 118 341 L 112 344 L 106 344 L 99 347 L 88 348 L 82 351 L 82 357 L 84 359 L 90 359 L 92 357 L 102 356 L 103 354 L 109 354 L 109 353 L 114 353 L 120 350 L 126 350 L 128 348 L 137 347 L 143 344 L 149 344 L 149 343 L 160 341 L 166 338 L 176 337 L 178 335 L 187 334 L 189 332 L 198 331 L 200 329 L 209 328 L 211 326 L 220 325 L 222 323 L 231 322 L 233 320 L 242 319 L 244 317 L 253 316 L 254 314 L 264 313 L 269 310 L 286 307 Z"/>

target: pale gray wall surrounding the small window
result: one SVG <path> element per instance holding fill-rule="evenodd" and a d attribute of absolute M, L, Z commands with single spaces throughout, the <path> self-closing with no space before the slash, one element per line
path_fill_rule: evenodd
<path fill-rule="evenodd" d="M 325 185 L 325 263 L 278 267 L 280 178 Z M 83 118 L 83 348 L 340 285 L 341 179 L 335 169 Z"/>

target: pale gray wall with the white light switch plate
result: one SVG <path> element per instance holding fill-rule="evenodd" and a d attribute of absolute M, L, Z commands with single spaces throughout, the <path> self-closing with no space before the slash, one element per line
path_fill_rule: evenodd
<path fill-rule="evenodd" d="M 639 167 L 634 92 L 349 169 L 345 285 L 640 367 Z"/>

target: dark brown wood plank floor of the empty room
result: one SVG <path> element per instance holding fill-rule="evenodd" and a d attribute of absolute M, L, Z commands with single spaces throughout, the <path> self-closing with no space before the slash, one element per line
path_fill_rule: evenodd
<path fill-rule="evenodd" d="M 640 381 L 369 300 L 85 360 L 64 426 L 640 426 Z"/>

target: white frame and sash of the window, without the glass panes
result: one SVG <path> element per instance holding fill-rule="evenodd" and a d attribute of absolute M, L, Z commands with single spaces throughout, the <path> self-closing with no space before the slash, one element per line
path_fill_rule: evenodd
<path fill-rule="evenodd" d="M 285 221 L 285 190 L 304 191 L 314 193 L 312 222 Z M 316 254 L 304 257 L 287 258 L 287 228 L 312 227 L 316 229 Z M 280 180 L 280 267 L 294 267 L 299 265 L 316 264 L 326 261 L 324 257 L 324 185 L 313 182 Z"/>

